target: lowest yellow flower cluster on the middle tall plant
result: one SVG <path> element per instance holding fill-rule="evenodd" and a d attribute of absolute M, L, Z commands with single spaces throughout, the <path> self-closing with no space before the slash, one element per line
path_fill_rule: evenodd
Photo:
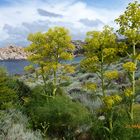
<path fill-rule="evenodd" d="M 115 103 L 121 102 L 122 98 L 119 95 L 111 95 L 104 97 L 104 103 L 108 109 L 111 109 Z"/>

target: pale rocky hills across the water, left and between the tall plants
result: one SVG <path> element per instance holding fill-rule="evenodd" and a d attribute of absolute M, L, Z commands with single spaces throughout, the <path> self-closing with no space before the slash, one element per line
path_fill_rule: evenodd
<path fill-rule="evenodd" d="M 84 42 L 80 40 L 72 41 L 75 45 L 75 51 L 73 52 L 75 56 L 83 54 L 82 46 Z M 28 54 L 24 51 L 23 47 L 9 46 L 0 48 L 0 60 L 25 60 Z"/>

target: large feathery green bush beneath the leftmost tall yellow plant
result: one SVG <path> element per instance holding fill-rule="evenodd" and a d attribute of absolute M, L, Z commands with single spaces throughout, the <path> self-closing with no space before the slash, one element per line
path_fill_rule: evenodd
<path fill-rule="evenodd" d="M 57 92 L 62 91 L 59 88 Z M 26 109 L 34 128 L 41 129 L 44 135 L 44 129 L 48 128 L 52 137 L 73 138 L 77 129 L 89 124 L 89 112 L 80 103 L 72 102 L 64 93 L 49 99 L 42 93 L 41 88 L 35 88 Z"/>

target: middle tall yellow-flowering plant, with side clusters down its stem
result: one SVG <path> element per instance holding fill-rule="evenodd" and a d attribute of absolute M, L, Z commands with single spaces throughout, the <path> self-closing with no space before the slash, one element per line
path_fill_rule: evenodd
<path fill-rule="evenodd" d="M 85 58 L 81 62 L 82 68 L 91 73 L 96 73 L 101 81 L 101 85 L 96 83 L 86 83 L 87 89 L 96 90 L 99 94 L 96 95 L 101 99 L 106 110 L 106 121 L 109 123 L 108 128 L 111 132 L 113 129 L 112 113 L 113 106 L 121 101 L 118 94 L 112 93 L 109 95 L 107 89 L 110 88 L 112 80 L 118 78 L 117 70 L 109 70 L 110 64 L 117 59 L 117 54 L 121 53 L 118 50 L 116 43 L 116 35 L 113 33 L 113 28 L 105 26 L 103 31 L 92 31 L 87 33 L 85 45 Z M 124 47 L 125 48 L 125 47 Z M 99 87 L 97 89 L 97 87 Z"/>

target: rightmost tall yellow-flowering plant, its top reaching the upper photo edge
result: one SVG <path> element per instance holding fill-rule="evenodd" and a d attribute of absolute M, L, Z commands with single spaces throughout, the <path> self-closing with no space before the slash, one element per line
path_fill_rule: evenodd
<path fill-rule="evenodd" d="M 129 3 L 126 11 L 117 18 L 116 23 L 120 28 L 118 33 L 123 35 L 129 42 L 129 46 L 132 46 L 132 52 L 127 52 L 129 56 L 129 62 L 126 62 L 123 67 L 128 73 L 128 77 L 131 83 L 131 87 L 126 89 L 132 93 L 129 97 L 129 108 L 127 110 L 129 117 L 133 120 L 133 104 L 135 97 L 135 73 L 137 70 L 137 60 L 139 60 L 140 54 L 136 52 L 136 45 L 140 43 L 140 4 L 138 1 Z M 126 93 L 125 91 L 125 93 Z M 127 94 L 128 95 L 128 94 Z"/>

